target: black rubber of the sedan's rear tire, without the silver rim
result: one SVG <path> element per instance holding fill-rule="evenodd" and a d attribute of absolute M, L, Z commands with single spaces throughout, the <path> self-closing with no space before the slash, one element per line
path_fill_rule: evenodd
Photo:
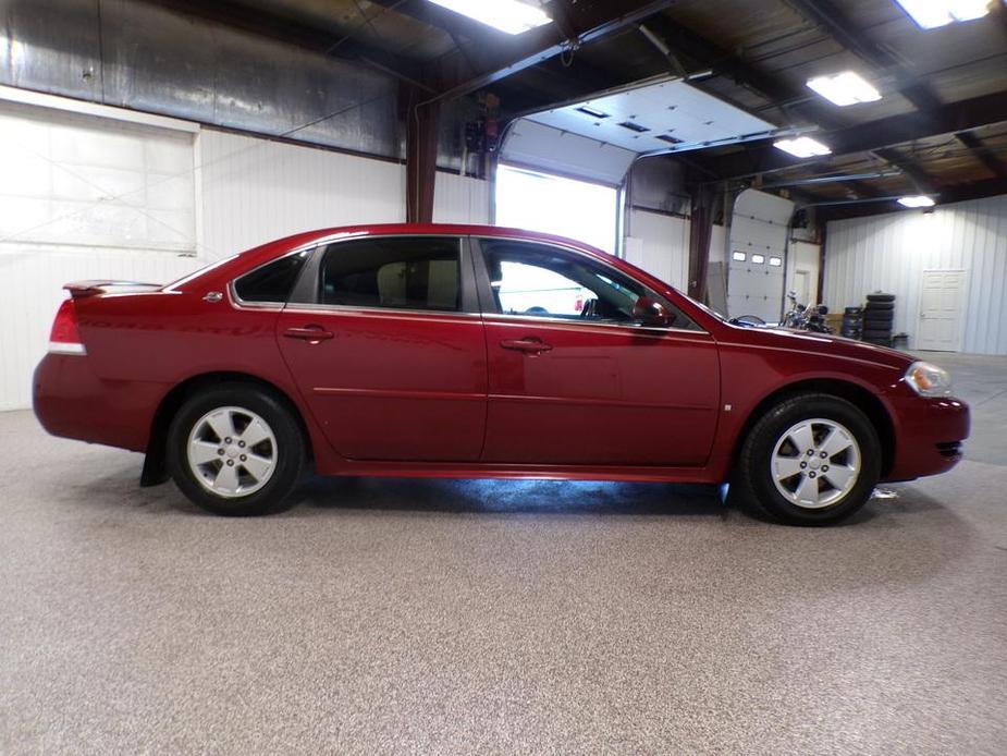
<path fill-rule="evenodd" d="M 272 439 L 258 442 L 268 444 L 266 447 L 253 444 L 256 451 L 267 455 L 272 464 L 269 466 L 269 477 L 265 484 L 255 488 L 256 484 L 249 485 L 255 488 L 247 495 L 240 492 L 232 496 L 222 496 L 200 481 L 200 471 L 204 474 L 211 474 L 216 461 L 198 465 L 194 470 L 189 464 L 187 454 L 189 436 L 196 431 L 197 424 L 205 428 L 208 424 L 200 423 L 209 413 L 222 407 L 234 407 L 236 412 L 230 413 L 233 417 L 253 417 L 255 415 L 261 419 Z M 241 411 L 249 412 L 248 415 L 242 415 Z M 233 427 L 238 428 L 238 423 L 233 422 Z M 244 426 L 247 430 L 251 425 Z M 238 428 L 241 430 L 241 428 Z M 240 437 L 240 434 L 237 435 Z M 275 443 L 273 443 L 273 439 Z M 198 440 L 198 439 L 197 439 Z M 233 447 L 230 441 L 223 443 L 224 439 L 207 440 L 205 443 L 219 444 L 226 452 L 221 454 L 221 463 L 235 463 L 234 475 L 238 479 L 250 479 L 245 467 L 241 464 L 245 456 L 231 458 Z M 237 438 L 234 444 L 240 443 Z M 243 442 L 242 442 L 243 443 Z M 249 383 L 229 382 L 219 383 L 212 388 L 205 389 L 191 397 L 180 407 L 179 412 L 172 418 L 168 428 L 168 472 L 174 479 L 179 489 L 195 504 L 202 509 L 230 516 L 250 516 L 267 514 L 275 510 L 284 499 L 293 491 L 294 487 L 300 479 L 300 474 L 305 463 L 305 440 L 300 426 L 297 423 L 293 412 L 287 409 L 286 404 L 272 393 L 259 389 Z M 212 451 L 212 450 L 211 450 Z M 248 451 L 249 455 L 253 449 L 248 448 L 234 451 L 235 454 Z M 218 450 L 220 453 L 221 450 Z M 229 459 L 231 458 L 231 459 Z M 255 459 L 253 456 L 253 459 Z M 248 462 L 247 464 L 251 464 Z M 257 483 L 257 481 L 256 481 Z"/>

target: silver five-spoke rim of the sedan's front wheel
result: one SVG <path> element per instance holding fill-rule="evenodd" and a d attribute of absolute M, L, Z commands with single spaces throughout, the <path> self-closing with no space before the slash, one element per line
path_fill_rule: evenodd
<path fill-rule="evenodd" d="M 842 501 L 857 485 L 860 444 L 835 420 L 801 420 L 776 441 L 770 464 L 776 490 L 787 501 L 822 509 Z"/>

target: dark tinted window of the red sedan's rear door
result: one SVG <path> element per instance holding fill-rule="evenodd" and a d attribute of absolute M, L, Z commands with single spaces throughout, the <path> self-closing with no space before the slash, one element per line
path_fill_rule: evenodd
<path fill-rule="evenodd" d="M 318 277 L 327 305 L 460 309 L 460 242 L 433 236 L 372 237 L 331 245 Z"/>

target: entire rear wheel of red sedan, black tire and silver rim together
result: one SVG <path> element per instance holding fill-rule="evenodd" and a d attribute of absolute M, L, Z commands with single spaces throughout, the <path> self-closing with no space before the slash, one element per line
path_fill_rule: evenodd
<path fill-rule="evenodd" d="M 273 394 L 240 382 L 191 397 L 172 418 L 167 446 L 179 489 L 198 507 L 230 516 L 277 509 L 305 461 L 293 413 Z"/>

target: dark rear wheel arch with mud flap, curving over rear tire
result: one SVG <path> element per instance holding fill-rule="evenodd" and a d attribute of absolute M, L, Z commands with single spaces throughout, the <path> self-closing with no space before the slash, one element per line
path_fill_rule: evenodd
<path fill-rule="evenodd" d="M 304 437 L 308 461 L 314 458 L 311 434 L 300 409 L 291 399 L 290 394 L 275 383 L 248 373 L 219 370 L 191 376 L 174 386 L 158 404 L 150 422 L 150 435 L 147 440 L 147 451 L 144 458 L 144 470 L 140 473 L 140 486 L 156 486 L 168 480 L 165 466 L 168 426 L 185 401 L 200 389 L 224 382 L 238 382 L 255 386 L 275 397 L 282 402 L 297 420 L 300 434 Z"/>

